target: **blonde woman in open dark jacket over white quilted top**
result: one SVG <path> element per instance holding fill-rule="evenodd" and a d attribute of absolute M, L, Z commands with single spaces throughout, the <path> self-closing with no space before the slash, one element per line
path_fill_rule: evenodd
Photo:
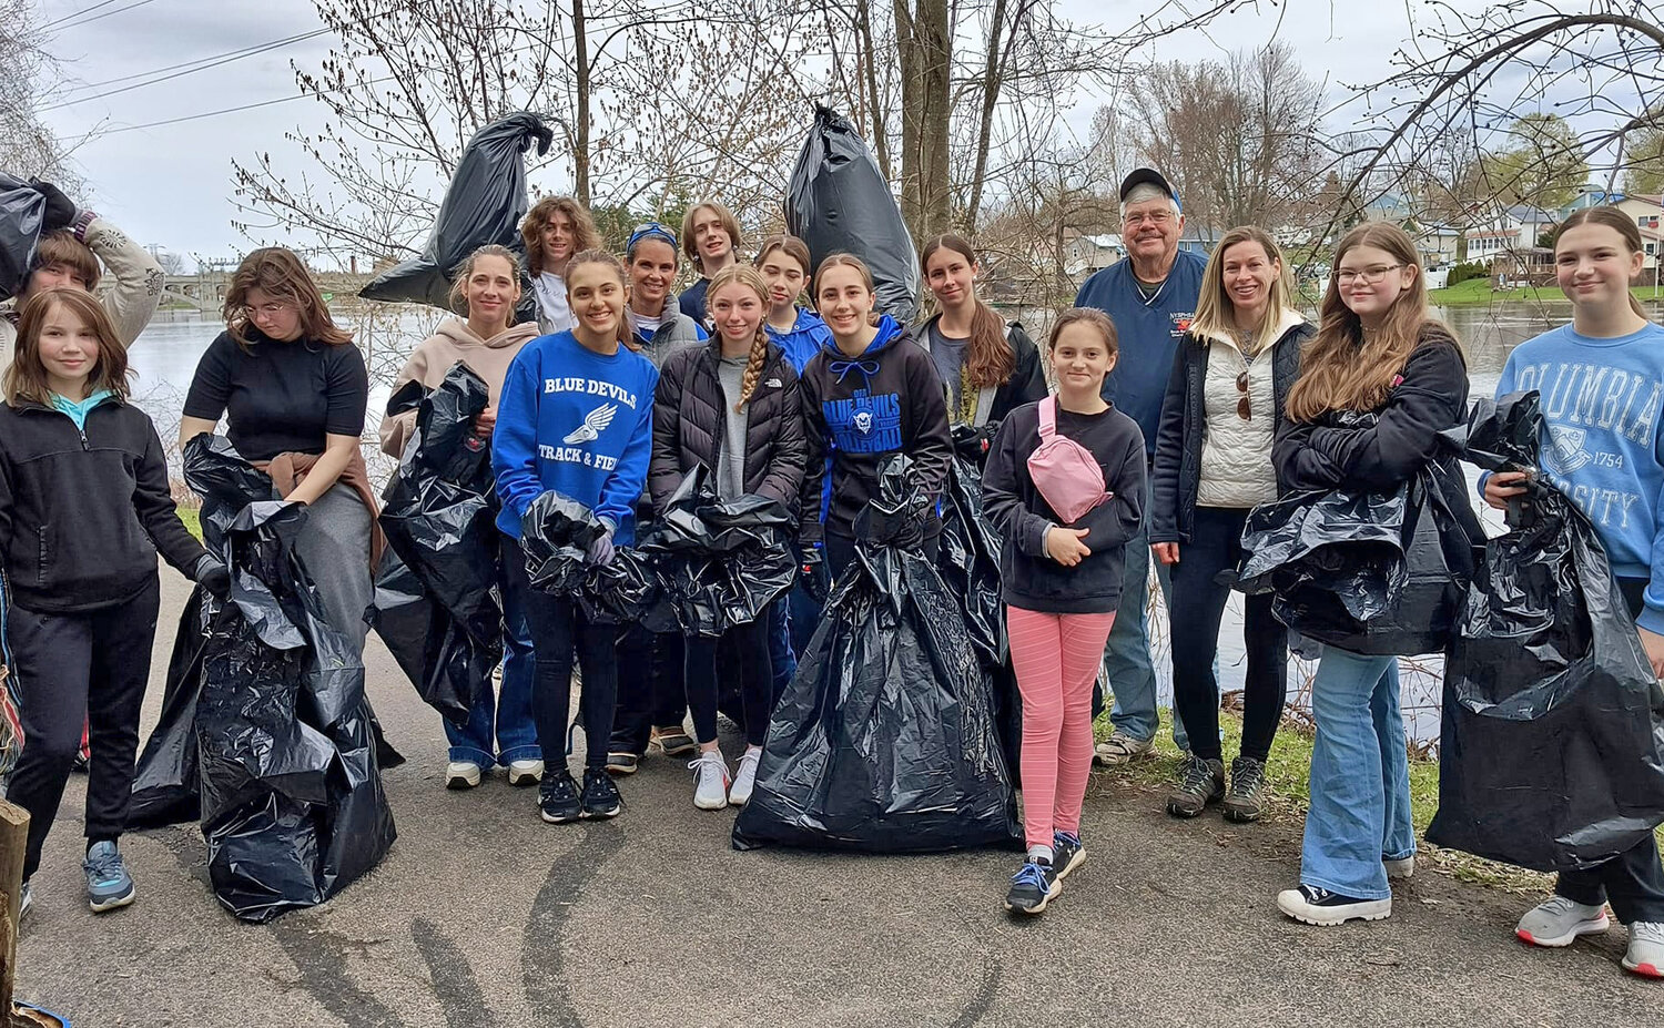
<path fill-rule="evenodd" d="M 1215 655 L 1231 589 L 1220 576 L 1241 564 L 1248 511 L 1276 501 L 1271 442 L 1300 373 L 1300 348 L 1313 333 L 1293 296 L 1288 264 L 1270 233 L 1255 226 L 1225 233 L 1201 273 L 1196 316 L 1161 401 L 1150 549 L 1173 571 L 1173 705 L 1190 729 L 1190 755 L 1166 800 L 1175 817 L 1196 817 L 1223 800 L 1226 820 L 1256 820 L 1265 762 L 1283 717 L 1288 629 L 1271 617 L 1270 594 L 1250 596 L 1243 742 L 1226 795 Z"/>

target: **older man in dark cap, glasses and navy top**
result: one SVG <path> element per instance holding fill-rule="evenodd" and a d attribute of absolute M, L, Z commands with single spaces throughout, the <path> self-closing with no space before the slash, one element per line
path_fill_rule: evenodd
<path fill-rule="evenodd" d="M 1146 457 L 1155 454 L 1161 398 L 1173 369 L 1178 341 L 1190 329 L 1201 294 L 1206 258 L 1180 253 L 1185 215 L 1173 186 L 1160 171 L 1138 168 L 1122 181 L 1122 243 L 1127 258 L 1098 271 L 1080 288 L 1077 308 L 1098 308 L 1115 321 L 1122 359 L 1103 381 L 1103 399 L 1113 403 L 1143 429 Z M 1145 502 L 1148 511 L 1148 497 Z M 1155 667 L 1150 662 L 1150 629 L 1145 600 L 1150 577 L 1150 539 L 1140 526 L 1127 541 L 1127 589 L 1103 650 L 1103 667 L 1115 709 L 1115 734 L 1098 745 L 1103 764 L 1127 764 L 1155 745 L 1160 715 L 1155 707 Z M 1170 596 L 1166 567 L 1156 566 L 1163 596 Z M 1185 727 L 1173 715 L 1173 742 L 1190 749 Z"/>

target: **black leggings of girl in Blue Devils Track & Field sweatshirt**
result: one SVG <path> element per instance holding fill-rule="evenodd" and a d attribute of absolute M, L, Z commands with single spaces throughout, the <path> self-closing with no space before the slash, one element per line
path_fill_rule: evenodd
<path fill-rule="evenodd" d="M 572 649 L 584 672 L 584 767 L 599 770 L 607 762 L 612 737 L 612 705 L 617 702 L 616 625 L 591 624 L 584 612 L 564 596 L 549 596 L 531 587 L 526 556 L 519 542 L 504 536 L 503 566 L 509 589 L 524 597 L 526 622 L 531 625 L 532 674 L 531 709 L 537 724 L 546 773 L 566 769 L 566 720 L 572 710 Z"/>

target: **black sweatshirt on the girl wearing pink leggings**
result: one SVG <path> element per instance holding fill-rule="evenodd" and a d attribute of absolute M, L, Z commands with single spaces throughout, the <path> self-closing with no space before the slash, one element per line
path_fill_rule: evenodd
<path fill-rule="evenodd" d="M 1122 602 L 1127 541 L 1138 534 L 1145 506 L 1145 444 L 1138 423 L 1113 406 L 1102 414 L 1058 409 L 1057 431 L 1098 459 L 1103 484 L 1115 496 L 1080 521 L 1063 522 L 1028 476 L 1028 456 L 1040 446 L 1040 404 L 1012 411 L 1000 423 L 982 472 L 982 507 L 1005 536 L 1000 584 L 1005 602 L 1045 614 L 1107 614 Z M 1092 549 L 1075 567 L 1045 552 L 1052 526 L 1088 529 Z"/>

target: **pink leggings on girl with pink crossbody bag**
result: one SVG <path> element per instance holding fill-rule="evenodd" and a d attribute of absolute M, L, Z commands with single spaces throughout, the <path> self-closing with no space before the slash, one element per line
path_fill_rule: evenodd
<path fill-rule="evenodd" d="M 1092 770 L 1092 684 L 1115 624 L 1108 614 L 1005 609 L 1017 689 L 1023 694 L 1023 835 L 1080 833 Z"/>

